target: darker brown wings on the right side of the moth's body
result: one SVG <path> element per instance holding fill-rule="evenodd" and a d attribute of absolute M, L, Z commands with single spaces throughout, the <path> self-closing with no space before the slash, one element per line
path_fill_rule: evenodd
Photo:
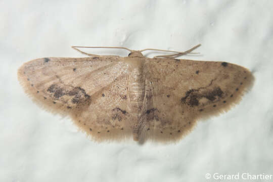
<path fill-rule="evenodd" d="M 254 77 L 241 66 L 211 61 L 147 59 L 147 138 L 178 140 L 199 118 L 228 111 Z"/>

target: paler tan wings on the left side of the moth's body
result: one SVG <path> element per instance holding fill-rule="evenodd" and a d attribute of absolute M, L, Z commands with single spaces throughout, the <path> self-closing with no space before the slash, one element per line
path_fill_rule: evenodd
<path fill-rule="evenodd" d="M 42 108 L 70 115 L 83 131 L 103 140 L 129 132 L 127 73 L 118 56 L 41 58 L 23 64 L 18 79 Z"/>

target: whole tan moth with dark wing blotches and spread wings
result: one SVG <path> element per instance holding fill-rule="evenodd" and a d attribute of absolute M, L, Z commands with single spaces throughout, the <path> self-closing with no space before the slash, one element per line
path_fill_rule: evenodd
<path fill-rule="evenodd" d="M 87 54 L 85 58 L 40 58 L 23 64 L 18 79 L 32 100 L 52 113 L 70 116 L 96 141 L 133 138 L 174 142 L 200 118 L 228 111 L 254 77 L 227 62 L 175 59 L 185 52 L 145 57 Z"/>

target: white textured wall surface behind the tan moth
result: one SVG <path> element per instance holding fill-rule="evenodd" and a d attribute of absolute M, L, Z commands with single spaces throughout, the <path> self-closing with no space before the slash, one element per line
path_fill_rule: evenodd
<path fill-rule="evenodd" d="M 15 0 L 1 1 L 0 7 L 0 181 L 206 181 L 206 173 L 273 175 L 272 1 Z M 82 57 L 71 45 L 183 51 L 198 43 L 202 54 L 184 58 L 239 64 L 256 81 L 239 105 L 199 122 L 177 144 L 94 143 L 69 118 L 33 104 L 17 81 L 17 69 L 26 61 Z M 127 55 L 120 50 L 97 53 Z"/>

